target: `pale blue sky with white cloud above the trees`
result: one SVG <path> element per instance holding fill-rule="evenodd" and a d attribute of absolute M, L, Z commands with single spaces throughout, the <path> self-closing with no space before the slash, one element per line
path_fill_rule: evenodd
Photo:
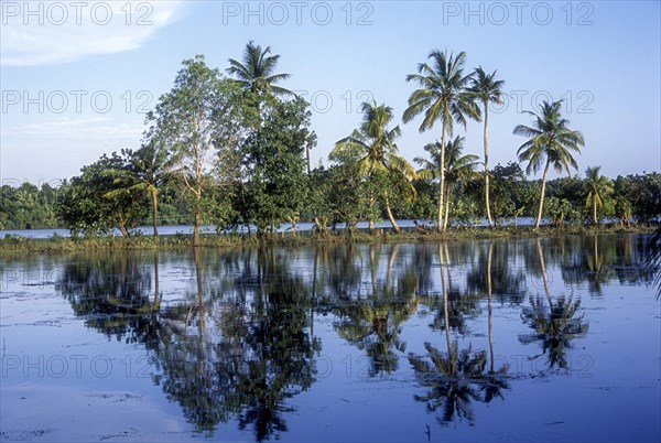
<path fill-rule="evenodd" d="M 359 126 L 362 101 L 393 108 L 410 161 L 440 139 L 401 121 L 431 51 L 497 71 L 490 163 L 517 158 L 527 110 L 564 99 L 583 132 L 578 171 L 661 170 L 660 1 L 9 1 L 0 0 L 0 182 L 57 185 L 104 153 L 140 147 L 145 112 L 197 54 L 225 71 L 252 40 L 279 54 L 281 84 L 311 102 L 313 166 Z M 483 154 L 483 127 L 455 136 Z M 552 176 L 557 176 L 554 174 Z"/>

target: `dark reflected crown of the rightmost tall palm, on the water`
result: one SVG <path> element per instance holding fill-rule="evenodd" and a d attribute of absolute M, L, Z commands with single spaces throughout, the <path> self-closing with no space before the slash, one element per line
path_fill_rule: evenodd
<path fill-rule="evenodd" d="M 587 324 L 583 315 L 576 316 L 581 301 L 566 300 L 564 296 L 555 302 L 549 300 L 549 307 L 544 299 L 530 299 L 531 307 L 524 307 L 521 318 L 534 329 L 532 334 L 520 335 L 519 341 L 528 344 L 541 342 L 542 354 L 549 354 L 546 364 L 550 368 L 555 366 L 568 369 L 565 350 L 571 346 L 571 341 L 582 337 L 587 333 Z"/>

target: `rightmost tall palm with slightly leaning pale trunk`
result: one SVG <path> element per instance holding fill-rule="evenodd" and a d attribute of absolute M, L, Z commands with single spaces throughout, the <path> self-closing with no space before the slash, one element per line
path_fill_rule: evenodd
<path fill-rule="evenodd" d="M 575 170 L 578 169 L 571 151 L 581 153 L 578 147 L 585 145 L 583 133 L 567 128 L 570 121 L 564 119 L 560 112 L 562 101 L 553 101 L 552 104 L 544 101 L 540 106 L 540 114 L 525 111 L 534 117 L 533 126 L 518 125 L 513 130 L 514 136 L 530 137 L 517 151 L 519 161 L 528 162 L 525 173 L 538 172 L 541 165 L 544 164 L 542 194 L 535 228 L 540 227 L 542 220 L 549 166 L 553 165 L 555 171 L 562 172 L 564 170 L 567 175 L 571 175 L 570 165 Z"/>

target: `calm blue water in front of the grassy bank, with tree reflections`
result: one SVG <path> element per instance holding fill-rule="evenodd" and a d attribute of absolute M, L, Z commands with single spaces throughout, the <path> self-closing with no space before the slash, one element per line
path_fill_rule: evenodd
<path fill-rule="evenodd" d="M 646 235 L 0 256 L 0 440 L 659 441 Z"/>

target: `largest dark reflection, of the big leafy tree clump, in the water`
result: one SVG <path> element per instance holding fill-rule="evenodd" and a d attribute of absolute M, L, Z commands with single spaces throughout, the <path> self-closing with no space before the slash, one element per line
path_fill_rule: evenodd
<path fill-rule="evenodd" d="M 153 349 L 163 390 L 201 431 L 236 417 L 258 441 L 278 435 L 293 411 L 284 401 L 314 381 L 319 344 L 307 332 L 307 288 L 273 249 L 228 253 L 221 268 L 235 272 L 219 280 L 194 256 L 195 295 L 169 312 Z"/>

